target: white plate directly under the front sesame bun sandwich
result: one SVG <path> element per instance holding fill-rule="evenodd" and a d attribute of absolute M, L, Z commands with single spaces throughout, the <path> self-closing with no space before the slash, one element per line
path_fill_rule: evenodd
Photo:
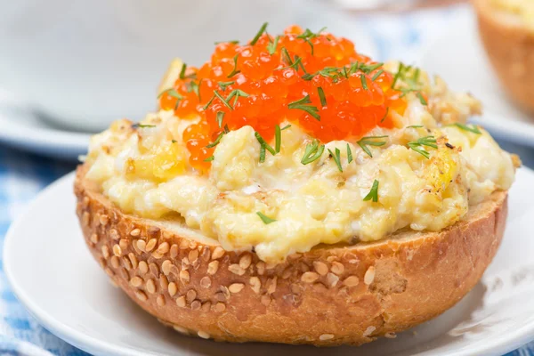
<path fill-rule="evenodd" d="M 12 289 L 55 335 L 96 355 L 324 355 L 312 346 L 220 344 L 178 335 L 112 287 L 85 247 L 69 174 L 12 224 L 4 271 Z M 534 338 L 534 173 L 518 171 L 502 246 L 481 283 L 439 318 L 337 355 L 502 355 Z"/>

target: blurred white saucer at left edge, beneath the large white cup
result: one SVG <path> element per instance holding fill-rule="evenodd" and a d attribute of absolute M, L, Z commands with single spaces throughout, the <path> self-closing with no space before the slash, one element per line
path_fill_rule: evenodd
<path fill-rule="evenodd" d="M 36 113 L 0 90 L 0 142 L 39 155 L 77 160 L 85 154 L 90 134 L 63 131 L 46 125 Z"/>

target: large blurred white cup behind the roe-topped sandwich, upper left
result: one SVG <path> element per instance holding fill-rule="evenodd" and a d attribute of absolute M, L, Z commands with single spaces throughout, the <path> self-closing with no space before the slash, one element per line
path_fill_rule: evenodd
<path fill-rule="evenodd" d="M 299 5 L 300 4 L 300 5 Z M 17 0 L 0 11 L 0 85 L 53 123 L 101 130 L 156 105 L 167 64 L 201 65 L 214 41 L 305 23 L 306 0 Z M 300 15 L 299 15 L 300 14 Z M 300 17 L 299 17 L 300 16 Z"/>

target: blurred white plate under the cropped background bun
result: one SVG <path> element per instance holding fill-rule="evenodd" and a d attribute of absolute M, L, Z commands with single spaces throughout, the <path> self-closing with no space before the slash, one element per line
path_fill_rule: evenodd
<path fill-rule="evenodd" d="M 473 13 L 461 17 L 429 45 L 421 68 L 440 75 L 457 91 L 473 93 L 482 101 L 484 115 L 473 121 L 491 134 L 534 147 L 534 116 L 514 106 L 501 89 L 478 36 Z"/>

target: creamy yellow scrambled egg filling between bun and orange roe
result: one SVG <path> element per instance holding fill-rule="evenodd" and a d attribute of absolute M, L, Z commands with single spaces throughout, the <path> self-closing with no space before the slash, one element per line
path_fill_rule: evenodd
<path fill-rule="evenodd" d="M 336 141 L 303 165 L 312 138 L 293 124 L 282 132 L 279 154 L 260 163 L 254 129 L 244 126 L 223 136 L 209 174 L 201 175 L 185 164 L 181 137 L 191 121 L 160 111 L 139 128 L 121 120 L 95 135 L 86 178 L 125 213 L 180 221 L 227 250 L 255 248 L 267 262 L 321 243 L 440 231 L 493 191 L 507 190 L 514 162 L 483 129 L 451 125 L 480 111 L 478 101 L 449 93 L 440 81 L 427 91 L 428 106 L 411 98 L 396 117 L 400 128 L 368 133 L 387 135 L 383 146 L 367 146 L 372 157 L 356 142 Z M 437 148 L 417 145 L 428 136 Z M 342 171 L 328 154 L 336 149 Z M 377 201 L 368 197 L 374 184 Z"/>

